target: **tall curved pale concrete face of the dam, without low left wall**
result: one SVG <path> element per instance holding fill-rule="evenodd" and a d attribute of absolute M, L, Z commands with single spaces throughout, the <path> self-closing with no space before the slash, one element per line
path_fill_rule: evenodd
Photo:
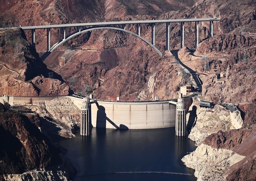
<path fill-rule="evenodd" d="M 78 107 L 82 98 L 67 96 Z M 91 99 L 90 101 L 96 101 Z M 152 129 L 175 126 L 176 105 L 169 101 L 101 101 L 91 104 L 92 125 L 101 128 Z M 98 109 L 99 108 L 99 109 Z"/>

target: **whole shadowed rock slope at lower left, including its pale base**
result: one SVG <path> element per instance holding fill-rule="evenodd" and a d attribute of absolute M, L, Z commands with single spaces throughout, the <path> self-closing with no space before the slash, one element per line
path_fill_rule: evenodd
<path fill-rule="evenodd" d="M 38 114 L 27 116 L 7 110 L 0 103 L 0 180 L 63 180 L 76 169 L 68 158 L 40 132 Z M 34 124 L 35 123 L 35 124 Z"/>

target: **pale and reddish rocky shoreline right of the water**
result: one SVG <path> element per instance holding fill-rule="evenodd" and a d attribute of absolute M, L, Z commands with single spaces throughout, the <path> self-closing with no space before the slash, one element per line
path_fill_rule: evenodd
<path fill-rule="evenodd" d="M 198 147 L 184 156 L 182 161 L 187 167 L 195 169 L 197 180 L 253 180 L 256 171 L 253 161 L 256 151 L 252 148 L 256 147 L 255 124 L 233 129 L 229 111 L 217 109 L 216 106 L 213 109 L 200 108 L 195 100 L 187 114 L 188 126 L 191 119 L 194 122 L 188 138 L 196 141 Z M 228 130 L 225 130 L 225 124 L 229 125 Z M 245 166 L 247 163 L 251 165 L 250 169 Z M 244 174 L 241 170 L 250 170 L 250 173 Z"/>

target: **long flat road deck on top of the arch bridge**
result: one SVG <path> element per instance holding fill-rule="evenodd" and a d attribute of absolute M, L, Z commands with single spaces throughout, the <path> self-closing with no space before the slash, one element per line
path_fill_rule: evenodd
<path fill-rule="evenodd" d="M 73 23 L 73 24 L 58 24 L 58 25 L 40 25 L 40 26 L 21 26 L 23 30 L 29 29 L 45 29 L 45 28 L 64 28 L 74 26 L 107 26 L 107 25 L 122 25 L 122 24 L 145 24 L 145 23 L 179 23 L 179 22 L 196 22 L 196 21 L 219 21 L 220 18 L 194 18 L 194 19 L 162 19 L 162 20 L 138 20 L 138 21 L 110 21 L 110 22 L 95 22 L 95 23 Z M 15 29 L 19 27 L 0 28 Z"/>

